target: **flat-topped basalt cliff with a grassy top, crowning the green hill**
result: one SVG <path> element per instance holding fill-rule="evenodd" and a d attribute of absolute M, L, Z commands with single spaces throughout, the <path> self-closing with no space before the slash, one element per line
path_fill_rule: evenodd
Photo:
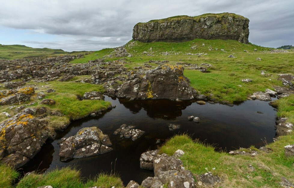
<path fill-rule="evenodd" d="M 232 13 L 176 16 L 137 23 L 133 28 L 133 39 L 140 42 L 183 42 L 196 38 L 232 39 L 247 44 L 248 27 L 248 18 Z"/>

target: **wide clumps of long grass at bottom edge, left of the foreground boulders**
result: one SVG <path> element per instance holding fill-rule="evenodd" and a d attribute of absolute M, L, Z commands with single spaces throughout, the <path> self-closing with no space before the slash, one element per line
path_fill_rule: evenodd
<path fill-rule="evenodd" d="M 88 180 L 84 183 L 79 171 L 66 167 L 60 170 L 55 169 L 45 174 L 32 173 L 21 179 L 16 188 L 36 188 L 44 185 L 51 185 L 54 188 L 123 187 L 119 177 L 107 174 L 99 174 L 93 180 Z"/>

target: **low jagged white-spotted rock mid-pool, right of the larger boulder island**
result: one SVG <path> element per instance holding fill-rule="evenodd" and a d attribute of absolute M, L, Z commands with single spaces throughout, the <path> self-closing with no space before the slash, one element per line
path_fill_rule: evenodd
<path fill-rule="evenodd" d="M 131 138 L 133 141 L 135 141 L 140 138 L 145 133 L 145 131 L 134 128 L 135 126 L 127 126 L 126 124 L 123 124 L 120 128 L 114 131 L 114 134 L 120 134 L 121 138 Z"/>

